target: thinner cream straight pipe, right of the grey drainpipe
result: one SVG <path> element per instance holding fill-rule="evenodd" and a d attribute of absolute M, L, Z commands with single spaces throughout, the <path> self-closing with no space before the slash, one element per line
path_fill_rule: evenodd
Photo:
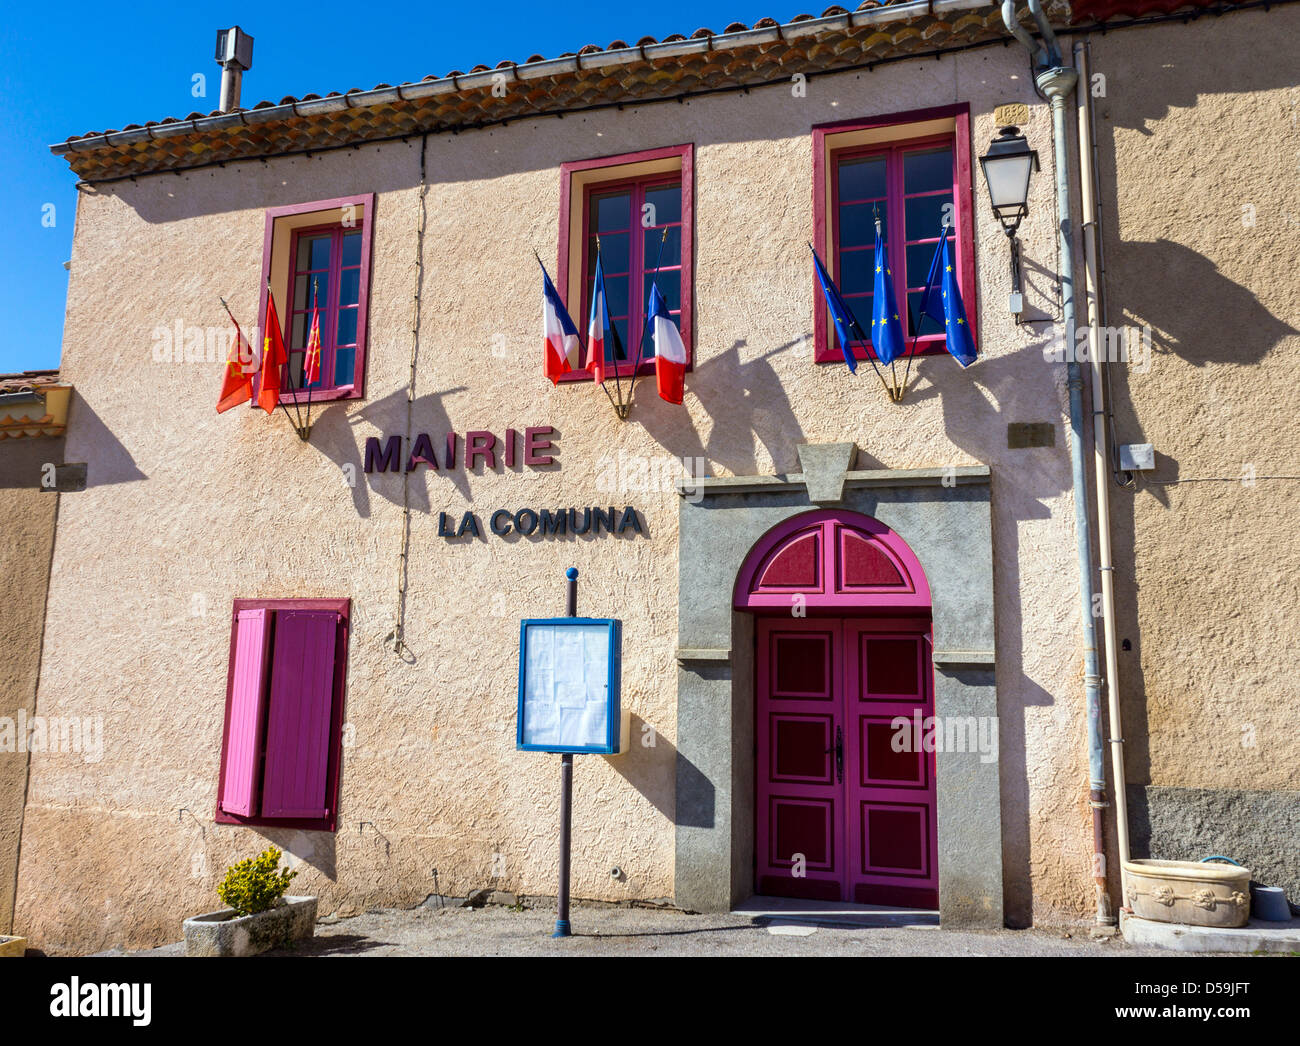
<path fill-rule="evenodd" d="M 1097 164 L 1092 136 L 1092 100 L 1088 94 L 1088 44 L 1074 45 L 1074 65 L 1083 88 L 1079 91 L 1079 210 L 1083 216 L 1084 286 L 1088 301 L 1088 360 L 1092 364 L 1092 463 L 1097 489 L 1097 569 L 1101 573 L 1102 638 L 1106 655 L 1106 712 L 1110 717 L 1110 773 L 1115 791 L 1115 841 L 1119 859 L 1121 904 L 1124 861 L 1128 860 L 1128 789 L 1124 780 L 1124 742 L 1119 716 L 1119 655 L 1115 639 L 1114 565 L 1110 551 L 1110 450 L 1108 440 L 1105 368 L 1101 348 L 1101 251 L 1097 229 Z"/>

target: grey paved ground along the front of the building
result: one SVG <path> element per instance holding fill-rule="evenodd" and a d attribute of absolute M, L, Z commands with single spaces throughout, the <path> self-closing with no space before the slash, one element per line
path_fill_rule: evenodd
<path fill-rule="evenodd" d="M 454 902 L 452 902 L 454 903 Z M 413 908 L 372 911 L 316 926 L 292 951 L 268 955 L 1162 955 L 1088 928 L 961 933 L 937 926 L 807 925 L 745 915 L 575 906 L 573 936 L 551 939 L 552 908 Z M 1066 934 L 1070 934 L 1066 937 Z M 121 955 L 122 952 L 108 952 Z M 135 955 L 176 955 L 166 945 Z"/>

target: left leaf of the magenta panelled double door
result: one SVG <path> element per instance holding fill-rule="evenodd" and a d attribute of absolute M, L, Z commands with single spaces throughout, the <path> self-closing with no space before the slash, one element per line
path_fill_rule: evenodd
<path fill-rule="evenodd" d="M 759 893 L 828 900 L 842 895 L 840 631 L 837 621 L 758 622 Z"/>

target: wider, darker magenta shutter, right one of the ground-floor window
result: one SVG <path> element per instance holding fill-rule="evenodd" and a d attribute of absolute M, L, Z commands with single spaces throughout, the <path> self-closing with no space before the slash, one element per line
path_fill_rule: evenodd
<path fill-rule="evenodd" d="M 334 703 L 333 611 L 280 611 L 270 669 L 264 817 L 324 817 Z"/>

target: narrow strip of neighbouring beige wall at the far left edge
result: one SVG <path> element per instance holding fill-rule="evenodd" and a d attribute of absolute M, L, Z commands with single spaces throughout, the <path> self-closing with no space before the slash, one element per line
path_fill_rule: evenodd
<path fill-rule="evenodd" d="M 42 465 L 64 460 L 61 438 L 0 440 L 0 933 L 13 930 L 13 906 L 27 790 L 20 711 L 30 716 L 40 672 L 40 630 L 55 547 L 58 495 L 40 489 Z M 22 751 L 18 751 L 18 748 Z"/>

